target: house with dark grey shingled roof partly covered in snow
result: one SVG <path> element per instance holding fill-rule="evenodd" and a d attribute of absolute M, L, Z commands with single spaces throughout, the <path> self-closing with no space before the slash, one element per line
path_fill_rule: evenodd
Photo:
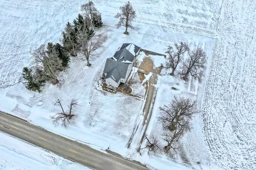
<path fill-rule="evenodd" d="M 123 44 L 113 57 L 107 58 L 103 71 L 107 86 L 118 88 L 121 82 L 126 82 L 139 52 L 140 47 L 131 43 Z"/>

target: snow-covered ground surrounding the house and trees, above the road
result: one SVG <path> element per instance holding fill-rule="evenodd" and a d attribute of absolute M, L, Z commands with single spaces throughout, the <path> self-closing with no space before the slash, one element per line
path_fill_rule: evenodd
<path fill-rule="evenodd" d="M 32 64 L 29 52 L 43 43 L 58 42 L 65 24 L 73 21 L 84 2 L 0 1 L 0 15 L 4 16 L 0 18 L 1 111 L 97 149 L 110 146 L 110 150 L 161 170 L 187 169 L 173 164 L 174 159 L 195 169 L 256 169 L 255 1 L 133 0 L 138 17 L 135 30 L 126 36 L 124 28 L 115 28 L 114 18 L 125 1 L 95 0 L 104 23 L 100 32 L 108 39 L 101 55 L 93 58 L 92 67 L 78 56 L 59 75 L 60 87 L 47 84 L 41 94 L 26 90 L 19 80 L 22 67 Z M 206 51 L 205 80 L 199 85 L 194 81 L 186 84 L 178 78 L 160 76 L 147 134 L 161 128 L 157 123 L 158 107 L 174 95 L 197 98 L 202 113 L 194 117 L 193 129 L 182 138 L 182 148 L 174 159 L 149 158 L 145 154 L 140 157 L 126 145 L 143 100 L 101 91 L 98 82 L 103 66 L 123 43 L 163 54 L 168 45 L 180 41 Z M 173 86 L 179 90 L 171 90 Z M 76 123 L 68 129 L 54 127 L 50 116 L 60 111 L 55 101 L 60 99 L 66 108 L 73 98 L 79 104 Z M 14 156 L 13 160 L 17 159 Z M 198 161 L 202 164 L 197 165 Z"/>

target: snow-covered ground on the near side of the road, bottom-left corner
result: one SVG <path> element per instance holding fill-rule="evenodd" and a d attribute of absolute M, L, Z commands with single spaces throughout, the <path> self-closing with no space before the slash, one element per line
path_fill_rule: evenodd
<path fill-rule="evenodd" d="M 68 159 L 13 138 L 5 133 L 0 132 L 0 139 L 1 170 L 89 170 L 85 166 L 71 162 Z"/>

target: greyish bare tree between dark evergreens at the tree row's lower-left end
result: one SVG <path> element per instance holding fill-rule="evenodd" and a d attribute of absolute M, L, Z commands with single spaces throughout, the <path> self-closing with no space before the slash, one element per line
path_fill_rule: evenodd
<path fill-rule="evenodd" d="M 58 57 L 58 54 L 53 50 L 51 53 L 47 52 L 45 45 L 39 46 L 35 49 L 32 55 L 35 57 L 38 69 L 43 69 L 53 84 L 57 84 L 56 73 L 63 69 L 62 61 Z"/>

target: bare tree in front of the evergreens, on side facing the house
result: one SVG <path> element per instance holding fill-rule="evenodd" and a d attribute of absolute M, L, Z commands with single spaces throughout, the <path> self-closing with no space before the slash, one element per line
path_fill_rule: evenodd
<path fill-rule="evenodd" d="M 102 35 L 90 34 L 88 29 L 82 29 L 78 32 L 77 41 L 81 45 L 82 53 L 84 54 L 87 66 L 91 66 L 90 58 L 96 55 L 96 50 L 102 47 L 106 37 Z"/>

